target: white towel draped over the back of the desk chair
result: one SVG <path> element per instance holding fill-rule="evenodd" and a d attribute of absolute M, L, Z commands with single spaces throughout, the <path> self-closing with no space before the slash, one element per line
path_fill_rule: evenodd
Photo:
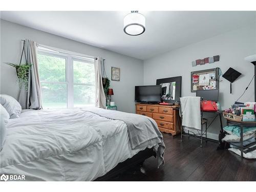
<path fill-rule="evenodd" d="M 181 97 L 182 126 L 201 130 L 200 97 Z"/>

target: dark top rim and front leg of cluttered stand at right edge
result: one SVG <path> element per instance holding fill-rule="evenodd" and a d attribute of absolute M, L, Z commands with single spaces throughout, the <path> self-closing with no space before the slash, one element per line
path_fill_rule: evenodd
<path fill-rule="evenodd" d="M 241 158 L 243 159 L 244 156 L 244 148 L 248 148 L 246 146 L 243 146 L 243 130 L 245 126 L 256 126 L 256 121 L 235 121 L 231 119 L 227 119 L 227 125 L 233 124 L 240 126 L 240 151 L 241 151 Z M 256 148 L 255 148 L 256 150 Z"/>

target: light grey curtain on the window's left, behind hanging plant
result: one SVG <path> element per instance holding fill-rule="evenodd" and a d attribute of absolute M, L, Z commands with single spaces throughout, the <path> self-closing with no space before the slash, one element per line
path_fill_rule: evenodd
<path fill-rule="evenodd" d="M 39 110 L 42 109 L 42 97 L 35 41 L 25 40 L 25 55 L 27 62 L 32 64 L 32 67 L 29 71 L 28 91 L 20 90 L 18 101 L 23 109 Z"/>

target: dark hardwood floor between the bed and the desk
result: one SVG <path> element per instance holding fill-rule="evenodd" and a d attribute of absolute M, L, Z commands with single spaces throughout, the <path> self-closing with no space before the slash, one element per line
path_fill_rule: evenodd
<path fill-rule="evenodd" d="M 180 135 L 163 134 L 166 145 L 165 164 L 159 169 L 154 157 L 138 167 L 113 178 L 112 181 L 256 181 L 256 160 L 243 159 L 228 151 L 217 151 L 217 142 Z"/>

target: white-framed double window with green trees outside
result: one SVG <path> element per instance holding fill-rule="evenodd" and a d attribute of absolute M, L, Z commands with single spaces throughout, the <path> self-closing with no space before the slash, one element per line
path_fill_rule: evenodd
<path fill-rule="evenodd" d="M 42 106 L 79 108 L 95 104 L 94 59 L 38 48 Z"/>

